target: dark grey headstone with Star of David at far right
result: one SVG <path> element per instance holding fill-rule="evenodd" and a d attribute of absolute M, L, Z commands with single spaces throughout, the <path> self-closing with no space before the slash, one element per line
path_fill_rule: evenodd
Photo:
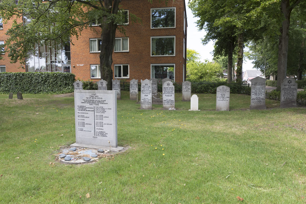
<path fill-rule="evenodd" d="M 281 108 L 297 107 L 297 83 L 294 78 L 284 79 L 281 85 Z"/>

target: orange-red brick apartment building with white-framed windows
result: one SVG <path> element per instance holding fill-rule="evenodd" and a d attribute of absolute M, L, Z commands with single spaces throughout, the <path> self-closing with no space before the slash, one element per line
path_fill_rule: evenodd
<path fill-rule="evenodd" d="M 140 17 L 142 23 L 126 19 L 125 35 L 116 32 L 113 51 L 113 78 L 163 79 L 176 82 L 186 77 L 187 17 L 185 0 L 165 3 L 147 0 L 122 0 L 121 8 Z M 23 17 L 24 24 L 29 22 Z M 4 43 L 12 21 L 0 24 L 0 43 Z M 84 29 L 74 45 L 55 48 L 50 45 L 35 45 L 34 55 L 20 63 L 11 64 L 8 53 L 0 61 L 0 72 L 71 72 L 76 79 L 98 81 L 100 79 L 99 43 L 101 28 L 91 25 L 97 32 Z"/>

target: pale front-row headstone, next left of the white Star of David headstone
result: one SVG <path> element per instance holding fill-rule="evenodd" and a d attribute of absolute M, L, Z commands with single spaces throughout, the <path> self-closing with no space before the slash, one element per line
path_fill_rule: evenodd
<path fill-rule="evenodd" d="M 152 109 L 152 81 L 141 80 L 140 109 Z"/>

